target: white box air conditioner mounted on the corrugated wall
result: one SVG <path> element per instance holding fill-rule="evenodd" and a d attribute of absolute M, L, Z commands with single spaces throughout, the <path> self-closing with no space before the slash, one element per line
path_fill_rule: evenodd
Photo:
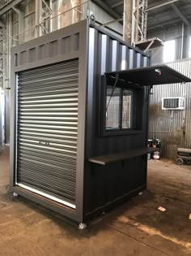
<path fill-rule="evenodd" d="M 162 98 L 162 109 L 166 111 L 185 110 L 185 98 L 182 98 L 182 97 Z"/>

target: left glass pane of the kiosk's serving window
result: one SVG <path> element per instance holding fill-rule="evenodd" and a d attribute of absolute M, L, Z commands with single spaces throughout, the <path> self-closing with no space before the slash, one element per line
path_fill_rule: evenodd
<path fill-rule="evenodd" d="M 121 89 L 112 86 L 107 86 L 107 101 L 106 101 L 106 129 L 120 128 L 120 101 Z"/>

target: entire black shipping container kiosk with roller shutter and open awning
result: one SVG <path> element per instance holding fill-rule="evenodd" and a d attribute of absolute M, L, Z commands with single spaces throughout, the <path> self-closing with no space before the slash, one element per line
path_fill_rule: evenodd
<path fill-rule="evenodd" d="M 11 50 L 11 190 L 84 223 L 146 189 L 149 93 L 189 78 L 83 20 Z M 165 86 L 165 85 L 164 85 Z"/>

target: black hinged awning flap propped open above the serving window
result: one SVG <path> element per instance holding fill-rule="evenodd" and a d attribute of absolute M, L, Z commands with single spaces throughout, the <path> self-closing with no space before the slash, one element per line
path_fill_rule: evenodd
<path fill-rule="evenodd" d="M 121 72 L 107 72 L 105 76 L 141 86 L 191 82 L 189 77 L 166 65 L 128 69 Z"/>

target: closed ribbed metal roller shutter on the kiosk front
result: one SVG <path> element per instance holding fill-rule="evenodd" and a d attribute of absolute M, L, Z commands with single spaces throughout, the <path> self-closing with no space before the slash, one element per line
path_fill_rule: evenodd
<path fill-rule="evenodd" d="M 79 61 L 18 75 L 17 182 L 75 204 Z"/>

